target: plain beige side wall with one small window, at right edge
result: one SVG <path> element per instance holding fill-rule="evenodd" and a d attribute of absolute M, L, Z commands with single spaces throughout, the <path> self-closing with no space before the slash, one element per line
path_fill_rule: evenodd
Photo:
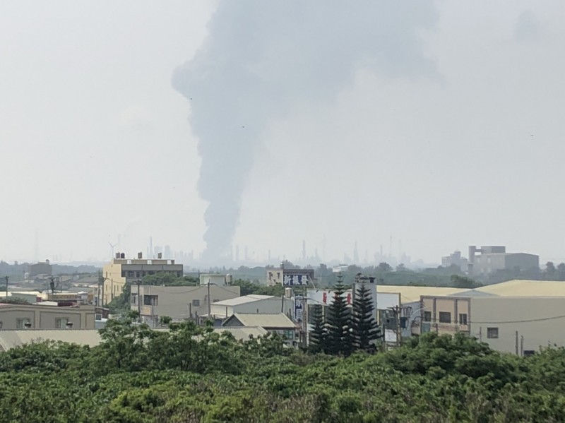
<path fill-rule="evenodd" d="M 565 346 L 565 298 L 477 297 L 471 299 L 471 313 L 471 335 L 494 350 L 516 354 L 516 331 L 519 355 L 547 345 Z M 488 328 L 498 328 L 498 338 L 489 338 Z"/>

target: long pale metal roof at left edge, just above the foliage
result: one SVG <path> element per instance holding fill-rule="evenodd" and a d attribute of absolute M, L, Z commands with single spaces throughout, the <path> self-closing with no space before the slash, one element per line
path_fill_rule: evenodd
<path fill-rule="evenodd" d="M 100 344 L 100 333 L 95 329 L 52 329 L 52 330 L 0 330 L 0 349 L 10 350 L 30 342 L 46 340 L 71 342 L 95 347 Z"/>

